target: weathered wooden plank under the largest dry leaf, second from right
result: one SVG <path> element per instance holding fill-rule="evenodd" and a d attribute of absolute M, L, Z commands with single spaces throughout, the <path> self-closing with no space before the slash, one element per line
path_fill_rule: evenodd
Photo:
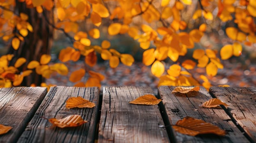
<path fill-rule="evenodd" d="M 226 136 L 201 135 L 187 136 L 174 131 L 177 142 L 192 143 L 247 143 L 249 142 L 242 132 L 231 121 L 223 109 L 209 109 L 201 107 L 202 103 L 208 101 L 210 94 L 201 87 L 199 92 L 193 91 L 187 94 L 172 93 L 173 86 L 162 86 L 158 88 L 158 95 L 162 96 L 163 104 L 169 118 L 169 123 L 174 125 L 178 120 L 186 116 L 202 119 L 208 123 L 217 125 L 226 130 Z M 171 127 L 170 125 L 167 125 Z"/>

